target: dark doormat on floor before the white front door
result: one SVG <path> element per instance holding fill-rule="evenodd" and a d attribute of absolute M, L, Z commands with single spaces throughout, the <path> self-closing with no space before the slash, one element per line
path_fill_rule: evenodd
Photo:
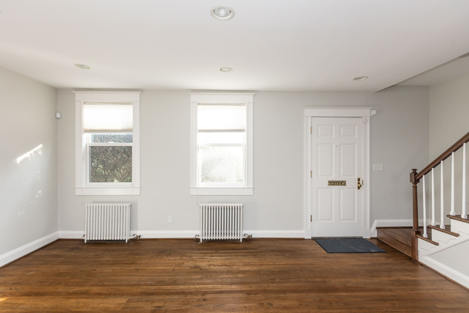
<path fill-rule="evenodd" d="M 315 239 L 327 253 L 385 253 L 386 251 L 363 238 Z"/>

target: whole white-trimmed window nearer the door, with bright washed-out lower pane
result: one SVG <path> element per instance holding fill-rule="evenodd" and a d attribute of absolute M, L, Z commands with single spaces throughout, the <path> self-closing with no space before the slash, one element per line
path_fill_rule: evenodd
<path fill-rule="evenodd" d="M 253 95 L 190 93 L 190 194 L 253 194 Z"/>

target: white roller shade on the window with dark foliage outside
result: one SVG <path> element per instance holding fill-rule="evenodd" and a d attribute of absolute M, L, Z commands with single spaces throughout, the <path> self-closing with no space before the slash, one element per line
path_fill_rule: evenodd
<path fill-rule="evenodd" d="M 132 132 L 134 112 L 132 105 L 84 105 L 85 132 Z"/>

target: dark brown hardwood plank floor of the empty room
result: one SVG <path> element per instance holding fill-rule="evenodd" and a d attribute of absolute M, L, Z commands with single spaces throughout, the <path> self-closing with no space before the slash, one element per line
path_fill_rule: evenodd
<path fill-rule="evenodd" d="M 314 240 L 58 240 L 0 268 L 0 312 L 469 312 L 469 291 L 394 248 Z"/>

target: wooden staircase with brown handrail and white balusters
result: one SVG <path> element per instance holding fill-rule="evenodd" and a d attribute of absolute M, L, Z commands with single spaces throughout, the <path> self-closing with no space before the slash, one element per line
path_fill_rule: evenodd
<path fill-rule="evenodd" d="M 378 239 L 385 243 L 392 243 L 392 246 L 409 255 L 412 260 L 431 267 L 441 275 L 469 288 L 469 218 L 466 212 L 468 204 L 466 203 L 467 142 L 469 142 L 469 133 L 419 173 L 416 169 L 412 169 L 410 175 L 413 191 L 412 228 L 406 228 L 406 230 L 377 228 L 377 232 Z M 460 156 L 462 164 L 455 164 L 456 152 L 462 153 Z M 451 181 L 445 178 L 443 167 L 446 171 L 451 169 Z M 438 172 L 440 177 L 435 179 L 435 174 L 438 175 Z M 455 184 L 456 176 L 461 184 Z M 424 227 L 421 228 L 419 228 L 419 193 L 417 192 L 419 183 L 422 183 L 420 208 L 424 220 Z M 462 198 L 455 198 L 455 186 L 458 186 L 458 189 L 462 188 L 460 192 Z M 439 203 L 436 203 L 436 197 L 439 197 Z M 460 212 L 460 215 L 457 215 L 456 211 Z M 445 225 L 445 217 L 449 218 L 449 225 Z M 399 238 L 399 233 L 401 238 Z"/>

